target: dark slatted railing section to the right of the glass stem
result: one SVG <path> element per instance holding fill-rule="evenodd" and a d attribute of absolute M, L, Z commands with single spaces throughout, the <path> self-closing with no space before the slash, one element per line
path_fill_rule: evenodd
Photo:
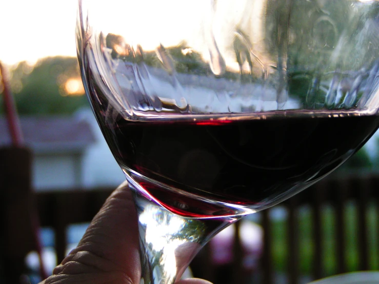
<path fill-rule="evenodd" d="M 330 276 L 325 270 L 325 242 L 331 241 L 325 239 L 325 227 L 327 226 L 325 218 L 323 218 L 324 208 L 327 206 L 332 211 L 333 218 L 333 234 L 331 237 L 335 246 L 332 248 L 332 254 L 336 260 L 336 269 L 333 274 L 341 274 L 349 272 L 347 267 L 347 238 L 348 230 L 347 222 L 347 208 L 348 205 L 354 204 L 356 209 L 354 212 L 354 224 L 356 227 L 353 232 L 356 238 L 357 244 L 357 271 L 366 270 L 379 270 L 379 261 L 372 261 L 370 259 L 370 252 L 376 251 L 379 254 L 379 176 L 377 175 L 351 175 L 347 174 L 344 177 L 338 178 L 326 178 L 317 184 L 313 185 L 309 189 L 293 196 L 292 198 L 282 202 L 280 205 L 286 209 L 285 224 L 286 229 L 283 234 L 286 234 L 286 251 L 287 251 L 287 267 L 284 271 L 286 275 L 286 283 L 297 284 L 301 282 L 301 263 L 304 259 L 300 258 L 300 233 L 304 235 L 304 232 L 300 232 L 298 226 L 299 219 L 301 218 L 301 210 L 305 207 L 310 211 L 310 228 L 312 236 L 312 259 L 311 259 L 311 273 L 308 275 L 308 280 L 316 280 L 326 276 Z M 368 220 L 368 210 L 375 210 L 375 228 L 371 228 Z M 261 263 L 259 269 L 255 273 L 260 275 L 260 283 L 271 284 L 277 283 L 275 278 L 275 271 L 273 268 L 274 255 L 273 255 L 273 243 L 277 235 L 273 233 L 273 220 L 270 218 L 271 209 L 262 211 L 260 224 L 264 229 L 264 248 L 263 255 L 261 257 Z M 329 224 L 330 226 L 330 224 Z M 369 231 L 375 230 L 375 240 L 369 239 Z M 237 232 L 235 232 L 237 236 Z M 371 234 L 372 235 L 372 234 Z M 238 239 L 235 237 L 234 239 Z M 236 246 L 234 246 L 236 247 Z M 238 246 L 237 246 L 238 248 Z M 241 250 L 241 246 L 240 246 Z M 234 252 L 236 256 L 234 261 L 241 263 L 241 251 Z M 201 261 L 195 259 L 195 261 Z M 211 261 L 209 262 L 211 263 Z M 212 266 L 200 266 L 204 267 L 206 271 L 201 271 L 200 275 L 205 275 L 209 280 L 214 280 Z M 240 270 L 233 269 L 235 274 L 232 277 L 230 283 L 234 282 L 234 279 L 238 279 L 244 272 L 241 271 L 242 266 L 239 266 Z M 216 270 L 215 270 L 216 271 Z M 246 274 L 246 273 L 245 273 Z M 246 279 L 244 281 L 246 283 Z M 239 281 L 239 283 L 242 283 Z M 228 283 L 229 284 L 229 283 Z"/>

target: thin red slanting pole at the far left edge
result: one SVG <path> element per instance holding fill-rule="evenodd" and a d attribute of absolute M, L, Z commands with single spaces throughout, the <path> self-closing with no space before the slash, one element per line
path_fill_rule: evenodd
<path fill-rule="evenodd" d="M 22 135 L 21 126 L 19 123 L 13 96 L 9 88 L 7 74 L 1 62 L 0 62 L 0 74 L 2 76 L 2 84 L 3 84 L 5 115 L 7 118 L 8 130 L 11 135 L 12 145 L 14 147 L 23 147 L 24 137 Z M 38 236 L 38 231 L 39 231 L 38 217 L 34 208 L 30 209 L 30 211 L 31 211 L 30 221 L 31 221 L 31 226 L 33 230 L 33 235 L 34 235 L 35 247 L 36 247 L 36 251 L 37 251 L 38 259 L 39 259 L 39 273 L 42 279 L 46 279 L 48 275 L 45 271 L 44 261 L 42 259 L 42 246 L 41 246 L 41 242 L 39 241 L 39 236 Z"/>

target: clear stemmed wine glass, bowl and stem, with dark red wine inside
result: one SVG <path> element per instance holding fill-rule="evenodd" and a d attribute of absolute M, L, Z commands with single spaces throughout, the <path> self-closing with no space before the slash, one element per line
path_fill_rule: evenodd
<path fill-rule="evenodd" d="M 379 125 L 379 4 L 79 0 L 87 96 L 134 192 L 143 283 L 344 163 Z"/>

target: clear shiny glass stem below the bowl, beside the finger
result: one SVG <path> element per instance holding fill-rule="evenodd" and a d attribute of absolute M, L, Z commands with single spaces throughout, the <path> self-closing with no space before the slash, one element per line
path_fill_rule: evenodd
<path fill-rule="evenodd" d="M 238 219 L 181 217 L 133 190 L 141 245 L 140 284 L 174 283 L 212 236 Z"/>

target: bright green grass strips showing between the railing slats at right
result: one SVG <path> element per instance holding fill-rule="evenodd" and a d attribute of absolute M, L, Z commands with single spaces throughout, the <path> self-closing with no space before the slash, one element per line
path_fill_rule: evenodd
<path fill-rule="evenodd" d="M 368 226 L 368 246 L 369 246 L 369 267 L 372 270 L 377 269 L 379 263 L 379 253 L 375 241 L 378 239 L 378 216 L 377 205 L 369 204 L 366 208 L 366 220 Z M 288 233 L 287 220 L 272 221 L 272 259 L 276 272 L 284 273 L 288 269 Z M 302 275 L 312 274 L 314 245 L 312 230 L 312 213 L 308 207 L 302 208 L 297 215 L 298 241 L 299 241 L 299 265 Z M 358 257 L 358 224 L 357 224 L 357 206 L 354 203 L 347 204 L 345 207 L 345 241 L 346 241 L 346 259 L 345 264 L 347 271 L 359 270 Z M 323 274 L 331 276 L 337 273 L 336 265 L 336 217 L 331 206 L 325 206 L 322 211 L 322 257 L 323 257 Z"/>

